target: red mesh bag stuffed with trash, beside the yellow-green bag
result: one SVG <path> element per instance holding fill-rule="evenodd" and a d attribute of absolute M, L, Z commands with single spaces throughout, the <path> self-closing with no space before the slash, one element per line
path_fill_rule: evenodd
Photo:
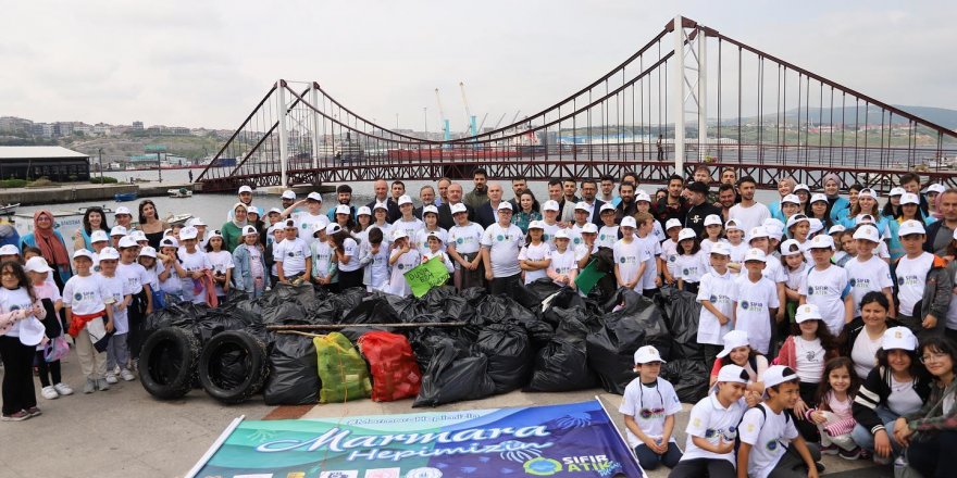
<path fill-rule="evenodd" d="M 422 374 L 405 336 L 372 331 L 358 344 L 372 373 L 372 400 L 391 402 L 419 394 Z"/>

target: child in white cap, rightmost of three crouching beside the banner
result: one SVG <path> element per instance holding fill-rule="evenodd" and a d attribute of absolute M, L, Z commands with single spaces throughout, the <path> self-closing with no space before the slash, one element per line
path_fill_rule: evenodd
<path fill-rule="evenodd" d="M 766 400 L 745 412 L 737 427 L 738 476 L 767 478 L 817 477 L 821 453 L 797 432 L 788 413 L 798 400 L 798 378 L 788 367 L 773 365 L 765 373 Z M 801 464 L 804 466 L 801 466 Z"/>

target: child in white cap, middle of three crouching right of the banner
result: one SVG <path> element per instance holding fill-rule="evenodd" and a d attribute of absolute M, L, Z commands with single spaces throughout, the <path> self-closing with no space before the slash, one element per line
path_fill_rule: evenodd
<path fill-rule="evenodd" d="M 684 455 L 670 478 L 734 478 L 734 441 L 737 425 L 747 410 L 744 397 L 747 372 L 725 365 L 708 397 L 699 400 L 688 416 Z"/>

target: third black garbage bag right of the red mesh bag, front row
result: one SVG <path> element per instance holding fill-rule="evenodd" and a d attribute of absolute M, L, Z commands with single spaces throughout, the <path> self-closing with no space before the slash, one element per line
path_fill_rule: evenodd
<path fill-rule="evenodd" d="M 555 336 L 535 356 L 526 392 L 564 392 L 595 387 L 587 365 L 588 329 L 577 319 L 562 320 Z"/>

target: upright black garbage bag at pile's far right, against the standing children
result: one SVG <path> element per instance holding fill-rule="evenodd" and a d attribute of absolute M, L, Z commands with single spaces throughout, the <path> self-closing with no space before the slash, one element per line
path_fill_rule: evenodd
<path fill-rule="evenodd" d="M 662 287 L 655 297 L 664 313 L 664 322 L 671 334 L 671 357 L 704 361 L 705 354 L 698 344 L 698 319 L 701 304 L 697 295 L 673 287 Z"/>

